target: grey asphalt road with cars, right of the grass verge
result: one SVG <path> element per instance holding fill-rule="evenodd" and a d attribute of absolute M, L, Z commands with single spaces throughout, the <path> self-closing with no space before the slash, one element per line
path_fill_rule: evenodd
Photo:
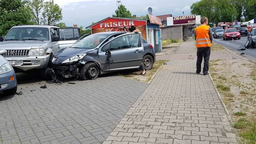
<path fill-rule="evenodd" d="M 217 38 L 217 39 L 214 38 L 213 42 L 215 42 L 219 45 L 223 45 L 237 54 L 245 53 L 242 55 L 243 57 L 245 57 L 249 60 L 256 61 L 256 49 L 255 48 L 249 48 L 244 51 L 238 51 L 239 47 L 242 47 L 242 48 L 245 47 L 245 43 L 247 42 L 247 36 L 241 36 L 240 40 L 236 39 L 234 42 L 231 42 L 231 40 L 225 41 L 222 38 Z"/>

